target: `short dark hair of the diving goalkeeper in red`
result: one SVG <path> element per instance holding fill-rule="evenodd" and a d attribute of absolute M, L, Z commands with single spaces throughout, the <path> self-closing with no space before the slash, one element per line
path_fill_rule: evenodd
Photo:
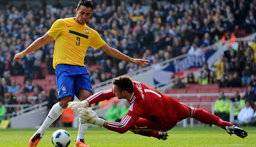
<path fill-rule="evenodd" d="M 133 83 L 129 76 L 119 76 L 114 78 L 112 83 L 117 85 L 121 92 L 128 91 L 130 94 L 133 92 Z"/>

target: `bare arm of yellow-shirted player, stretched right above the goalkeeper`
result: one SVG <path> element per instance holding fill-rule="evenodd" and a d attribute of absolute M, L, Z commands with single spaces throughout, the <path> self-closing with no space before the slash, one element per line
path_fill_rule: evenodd
<path fill-rule="evenodd" d="M 108 44 L 105 44 L 104 46 L 102 46 L 101 49 L 104 52 L 106 52 L 109 56 L 112 56 L 112 57 L 120 59 L 120 60 L 125 60 L 125 61 L 131 62 L 133 64 L 141 65 L 143 67 L 145 67 L 145 65 L 148 65 L 148 62 L 149 62 L 148 60 L 143 60 L 143 59 L 133 59 L 133 58 L 129 57 L 128 55 L 122 53 L 118 49 L 111 48 Z"/>

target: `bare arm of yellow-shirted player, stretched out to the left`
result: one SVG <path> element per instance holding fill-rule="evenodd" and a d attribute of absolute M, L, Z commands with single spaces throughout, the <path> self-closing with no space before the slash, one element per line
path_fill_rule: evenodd
<path fill-rule="evenodd" d="M 34 51 L 36 49 L 41 48 L 45 44 L 49 43 L 53 38 L 50 37 L 48 34 L 44 34 L 44 36 L 38 38 L 35 40 L 29 47 L 27 47 L 25 50 L 23 50 L 20 53 L 17 53 L 14 55 L 14 61 L 19 61 L 23 56 L 25 56 L 27 53 Z"/>

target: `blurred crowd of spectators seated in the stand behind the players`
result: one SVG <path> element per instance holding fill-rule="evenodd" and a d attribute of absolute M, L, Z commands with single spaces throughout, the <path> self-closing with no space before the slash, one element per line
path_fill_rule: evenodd
<path fill-rule="evenodd" d="M 32 104 L 52 100 L 32 80 L 55 74 L 52 68 L 54 41 L 19 62 L 13 61 L 13 55 L 43 36 L 55 20 L 75 16 L 79 0 L 70 5 L 61 1 L 49 4 L 47 0 L 38 0 L 38 4 L 31 4 L 30 0 L 21 0 L 19 5 L 13 0 L 0 1 L 0 101 L 3 106 L 17 104 L 13 95 L 25 92 L 33 92 L 38 97 Z M 87 25 L 97 30 L 111 47 L 133 58 L 150 60 L 148 66 L 185 53 L 198 55 L 202 48 L 214 44 L 234 43 L 241 31 L 256 32 L 256 0 L 101 0 L 94 3 Z M 229 39 L 233 40 L 226 42 Z M 87 50 L 85 64 L 92 84 L 142 68 L 93 48 Z M 239 42 L 237 49 L 229 45 L 214 67 L 216 71 L 205 63 L 201 76 L 195 77 L 190 72 L 186 83 L 219 83 L 219 87 L 249 84 L 255 90 L 256 38 L 251 45 Z M 10 76 L 17 75 L 24 75 L 25 82 L 16 84 L 10 80 Z M 175 77 L 174 88 L 185 88 L 179 79 Z M 31 102 L 22 95 L 22 103 Z"/>

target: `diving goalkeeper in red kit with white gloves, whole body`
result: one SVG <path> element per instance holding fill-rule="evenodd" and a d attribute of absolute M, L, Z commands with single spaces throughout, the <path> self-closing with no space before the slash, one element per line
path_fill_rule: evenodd
<path fill-rule="evenodd" d="M 132 81 L 129 76 L 114 78 L 112 83 L 113 88 L 100 91 L 81 102 L 69 102 L 68 107 L 71 109 L 78 108 L 83 122 L 103 126 L 119 133 L 130 130 L 135 134 L 161 140 L 167 139 L 167 131 L 185 118 L 195 118 L 205 124 L 220 126 L 230 135 L 236 134 L 241 138 L 248 135 L 243 129 L 223 121 L 210 112 L 183 104 L 143 83 Z M 113 97 L 125 98 L 130 103 L 128 113 L 120 123 L 98 118 L 92 109 L 85 109 L 90 104 Z"/>

